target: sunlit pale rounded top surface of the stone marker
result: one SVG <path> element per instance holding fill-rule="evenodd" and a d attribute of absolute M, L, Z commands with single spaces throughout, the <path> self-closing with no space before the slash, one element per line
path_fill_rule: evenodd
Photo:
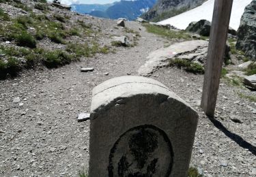
<path fill-rule="evenodd" d="M 188 103 L 173 93 L 167 86 L 154 79 L 142 76 L 122 76 L 106 80 L 93 89 L 91 113 L 119 99 L 132 97 L 134 95 L 150 94 L 167 95 L 191 108 Z M 193 110 L 193 108 L 191 109 Z"/>

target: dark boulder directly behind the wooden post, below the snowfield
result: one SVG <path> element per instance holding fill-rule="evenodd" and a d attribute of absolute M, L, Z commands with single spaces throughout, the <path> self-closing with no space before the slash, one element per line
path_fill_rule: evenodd
<path fill-rule="evenodd" d="M 190 22 L 190 24 L 186 28 L 186 31 L 191 33 L 197 33 L 203 36 L 210 36 L 211 26 L 212 23 L 208 20 L 199 20 L 198 22 Z M 231 35 L 236 35 L 236 30 L 229 27 L 228 33 Z"/>

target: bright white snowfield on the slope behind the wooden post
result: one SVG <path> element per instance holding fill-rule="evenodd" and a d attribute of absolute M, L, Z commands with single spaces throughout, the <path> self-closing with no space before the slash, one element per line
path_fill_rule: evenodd
<path fill-rule="evenodd" d="M 229 26 L 238 30 L 240 19 L 244 13 L 246 5 L 251 3 L 252 0 L 234 0 L 231 12 L 231 19 Z M 189 10 L 177 16 L 162 20 L 159 23 L 162 25 L 170 24 L 178 29 L 186 29 L 190 22 L 199 21 L 201 19 L 212 21 L 212 14 L 214 9 L 214 0 L 208 0 L 199 7 Z"/>

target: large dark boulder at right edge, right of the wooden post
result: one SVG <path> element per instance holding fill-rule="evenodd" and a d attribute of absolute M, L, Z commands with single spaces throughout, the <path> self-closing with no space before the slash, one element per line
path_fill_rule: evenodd
<path fill-rule="evenodd" d="M 246 57 L 256 60 L 256 1 L 252 1 L 244 10 L 236 48 L 244 51 Z"/>

